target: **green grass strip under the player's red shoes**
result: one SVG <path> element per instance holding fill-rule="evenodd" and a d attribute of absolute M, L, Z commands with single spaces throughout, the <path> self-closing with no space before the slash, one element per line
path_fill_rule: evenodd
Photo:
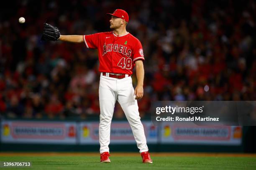
<path fill-rule="evenodd" d="M 111 156 L 111 163 L 100 163 L 99 156 L 1 156 L 0 161 L 30 161 L 31 168 L 7 170 L 256 170 L 254 157 L 154 157 L 153 164 L 141 163 L 138 156 Z M 4 168 L 0 168 L 2 170 Z"/>

